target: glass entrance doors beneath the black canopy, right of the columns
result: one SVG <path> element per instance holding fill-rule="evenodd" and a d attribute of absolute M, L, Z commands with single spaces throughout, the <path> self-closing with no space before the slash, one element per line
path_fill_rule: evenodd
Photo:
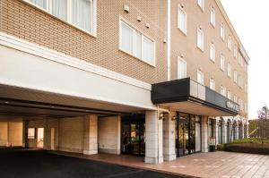
<path fill-rule="evenodd" d="M 177 114 L 177 157 L 201 151 L 201 117 L 192 114 Z"/>

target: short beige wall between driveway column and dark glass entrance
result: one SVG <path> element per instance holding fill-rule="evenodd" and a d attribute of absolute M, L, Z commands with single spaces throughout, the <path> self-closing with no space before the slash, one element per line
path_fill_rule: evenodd
<path fill-rule="evenodd" d="M 120 116 L 99 118 L 99 151 L 120 154 Z"/>

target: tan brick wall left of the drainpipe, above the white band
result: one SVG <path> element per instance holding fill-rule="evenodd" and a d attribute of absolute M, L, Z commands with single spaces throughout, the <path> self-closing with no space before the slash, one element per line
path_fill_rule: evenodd
<path fill-rule="evenodd" d="M 166 16 L 163 14 L 166 14 L 166 1 L 118 0 L 115 3 L 114 0 L 98 0 L 97 3 L 97 38 L 22 0 L 1 1 L 0 31 L 141 81 L 165 81 L 166 44 L 163 39 L 166 34 Z M 130 13 L 124 12 L 124 4 L 129 5 Z M 118 50 L 119 16 L 156 40 L 156 67 Z M 137 21 L 137 16 L 141 16 L 142 21 Z M 146 28 L 146 23 L 151 27 Z"/>

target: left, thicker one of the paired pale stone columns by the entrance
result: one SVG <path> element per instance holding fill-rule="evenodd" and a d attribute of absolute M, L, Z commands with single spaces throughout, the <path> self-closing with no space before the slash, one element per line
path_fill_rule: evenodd
<path fill-rule="evenodd" d="M 159 119 L 157 111 L 146 111 L 145 134 L 144 162 L 150 164 L 162 163 L 162 120 Z"/>

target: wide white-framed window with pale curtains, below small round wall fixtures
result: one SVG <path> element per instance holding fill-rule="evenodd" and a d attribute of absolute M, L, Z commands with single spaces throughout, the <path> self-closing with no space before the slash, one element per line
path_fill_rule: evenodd
<path fill-rule="evenodd" d="M 143 60 L 147 64 L 155 64 L 155 44 L 150 38 L 143 36 L 124 21 L 120 21 L 120 47 L 129 55 Z"/>

